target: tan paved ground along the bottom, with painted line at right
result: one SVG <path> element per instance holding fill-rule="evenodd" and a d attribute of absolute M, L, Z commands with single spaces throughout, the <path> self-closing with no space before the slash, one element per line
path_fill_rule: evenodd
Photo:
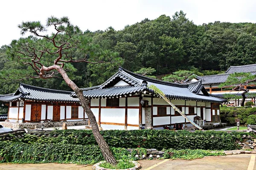
<path fill-rule="evenodd" d="M 207 156 L 194 160 L 142 160 L 141 170 L 256 170 L 256 154 Z M 0 164 L 0 170 L 92 170 L 77 164 Z"/>

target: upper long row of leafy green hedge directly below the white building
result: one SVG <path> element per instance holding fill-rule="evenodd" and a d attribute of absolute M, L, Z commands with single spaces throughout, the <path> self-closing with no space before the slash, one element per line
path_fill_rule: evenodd
<path fill-rule="evenodd" d="M 233 150 L 237 147 L 236 139 L 240 139 L 243 134 L 248 135 L 248 133 L 212 130 L 197 130 L 194 133 L 186 130 L 103 130 L 101 134 L 111 147 L 144 147 L 158 150 L 170 148 Z M 56 135 L 58 137 L 53 137 Z M 26 135 L 22 139 L 12 139 L 12 141 L 28 144 L 97 145 L 91 130 L 55 130 L 48 137 Z"/>

